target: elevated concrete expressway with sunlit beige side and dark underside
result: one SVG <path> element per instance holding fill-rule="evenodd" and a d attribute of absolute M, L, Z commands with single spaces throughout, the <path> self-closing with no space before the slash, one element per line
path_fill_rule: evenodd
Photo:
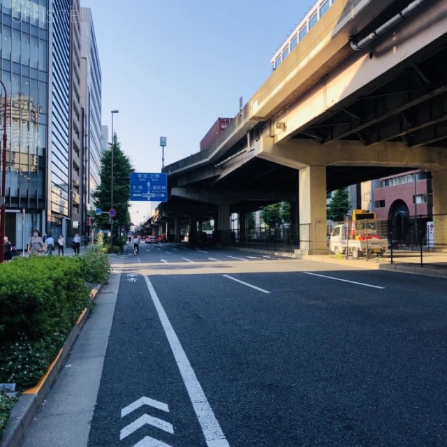
<path fill-rule="evenodd" d="M 447 214 L 446 60 L 447 1 L 335 2 L 210 149 L 166 166 L 159 222 L 213 217 L 223 234 L 230 212 L 289 200 L 308 228 L 326 191 L 409 168 L 432 171 Z M 302 251 L 326 250 L 316 228 Z"/>

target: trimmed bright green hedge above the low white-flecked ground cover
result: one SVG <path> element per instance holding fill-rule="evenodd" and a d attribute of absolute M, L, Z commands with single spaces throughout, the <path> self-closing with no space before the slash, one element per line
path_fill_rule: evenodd
<path fill-rule="evenodd" d="M 68 333 L 88 305 L 80 258 L 30 256 L 0 269 L 2 342 L 20 333 L 31 341 L 52 332 Z"/>

